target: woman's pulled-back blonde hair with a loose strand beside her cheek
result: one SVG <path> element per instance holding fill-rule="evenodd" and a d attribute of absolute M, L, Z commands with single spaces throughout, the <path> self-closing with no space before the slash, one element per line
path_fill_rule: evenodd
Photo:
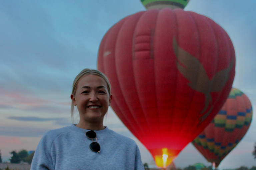
<path fill-rule="evenodd" d="M 93 69 L 85 68 L 74 79 L 73 89 L 72 89 L 73 96 L 75 97 L 76 90 L 77 90 L 77 84 L 78 84 L 79 80 L 83 76 L 90 75 L 90 74 L 100 76 L 101 78 L 103 78 L 105 80 L 105 82 L 107 83 L 108 94 L 110 95 L 111 94 L 111 91 L 110 91 L 111 86 L 110 86 L 110 83 L 108 81 L 108 78 L 102 72 L 100 72 L 98 70 L 93 70 Z M 74 104 L 73 104 L 73 102 L 71 103 L 71 119 L 72 119 L 72 123 L 74 123 Z"/>

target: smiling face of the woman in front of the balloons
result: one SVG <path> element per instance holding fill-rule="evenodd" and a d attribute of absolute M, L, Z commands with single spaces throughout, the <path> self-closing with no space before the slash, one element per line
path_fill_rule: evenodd
<path fill-rule="evenodd" d="M 107 83 L 103 78 L 89 74 L 79 80 L 75 96 L 71 95 L 71 99 L 77 106 L 80 119 L 103 122 L 112 95 L 108 94 Z"/>

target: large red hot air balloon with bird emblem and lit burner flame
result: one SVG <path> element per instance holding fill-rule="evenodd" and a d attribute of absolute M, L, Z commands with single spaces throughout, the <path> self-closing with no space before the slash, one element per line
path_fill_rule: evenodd
<path fill-rule="evenodd" d="M 152 9 L 109 29 L 98 69 L 110 80 L 117 116 L 164 167 L 224 104 L 235 52 L 211 19 L 181 9 Z"/>

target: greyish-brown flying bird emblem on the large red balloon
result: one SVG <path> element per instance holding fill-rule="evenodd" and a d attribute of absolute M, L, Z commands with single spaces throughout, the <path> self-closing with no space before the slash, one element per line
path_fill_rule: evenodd
<path fill-rule="evenodd" d="M 216 72 L 214 77 L 210 80 L 200 61 L 179 47 L 175 38 L 173 39 L 173 49 L 177 58 L 177 69 L 189 81 L 188 85 L 193 90 L 205 95 L 205 106 L 200 112 L 200 115 L 207 110 L 209 105 L 211 106 L 208 112 L 199 118 L 201 123 L 209 116 L 213 109 L 212 97 L 210 93 L 219 92 L 224 88 L 229 79 L 229 72 L 233 68 L 234 60 L 231 60 L 230 65 L 226 69 Z"/>

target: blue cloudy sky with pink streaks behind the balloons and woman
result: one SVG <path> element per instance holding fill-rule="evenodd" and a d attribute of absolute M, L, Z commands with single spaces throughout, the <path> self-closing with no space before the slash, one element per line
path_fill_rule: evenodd
<path fill-rule="evenodd" d="M 184 10 L 205 15 L 230 36 L 236 52 L 233 87 L 256 108 L 256 1 L 190 0 Z M 0 0 L 0 149 L 35 150 L 42 135 L 72 124 L 72 83 L 83 68 L 97 68 L 98 48 L 108 29 L 122 18 L 144 11 L 139 0 Z M 75 114 L 75 123 L 79 121 Z M 140 148 L 142 162 L 153 158 L 110 108 L 104 126 L 128 136 Z M 220 169 L 256 166 L 256 116 Z M 176 167 L 210 165 L 189 143 Z"/>

